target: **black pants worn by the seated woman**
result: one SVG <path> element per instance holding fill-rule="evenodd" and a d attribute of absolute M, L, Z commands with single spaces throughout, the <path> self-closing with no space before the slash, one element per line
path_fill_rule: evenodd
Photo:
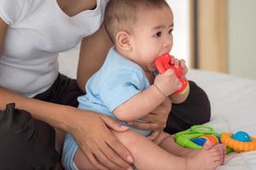
<path fill-rule="evenodd" d="M 167 133 L 176 133 L 210 120 L 207 94 L 195 82 L 189 84 L 188 99 L 183 104 L 172 105 L 165 129 Z M 75 80 L 59 75 L 53 86 L 35 99 L 76 107 L 77 97 L 82 94 Z M 54 169 L 59 159 L 53 127 L 33 119 L 26 111 L 16 109 L 15 104 L 0 111 L 0 169 Z"/>

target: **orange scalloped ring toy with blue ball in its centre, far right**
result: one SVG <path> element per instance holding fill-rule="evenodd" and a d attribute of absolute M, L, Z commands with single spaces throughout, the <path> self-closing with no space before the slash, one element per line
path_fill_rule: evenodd
<path fill-rule="evenodd" d="M 236 152 L 256 150 L 256 139 L 246 132 L 222 133 L 221 142 Z"/>

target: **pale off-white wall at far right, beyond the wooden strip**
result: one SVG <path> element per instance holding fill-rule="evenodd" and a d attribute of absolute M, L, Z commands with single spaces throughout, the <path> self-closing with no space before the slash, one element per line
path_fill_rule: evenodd
<path fill-rule="evenodd" d="M 230 74 L 256 79 L 256 1 L 229 1 Z"/>

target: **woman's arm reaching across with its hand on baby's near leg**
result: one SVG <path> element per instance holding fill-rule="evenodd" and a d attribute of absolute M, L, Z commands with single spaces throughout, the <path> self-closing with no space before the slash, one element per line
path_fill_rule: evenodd
<path fill-rule="evenodd" d="M 0 54 L 3 52 L 7 29 L 8 25 L 0 18 Z M 128 163 L 131 162 L 130 152 L 108 129 L 110 127 L 115 131 L 123 132 L 127 128 L 121 127 L 108 116 L 82 111 L 67 105 L 56 105 L 26 98 L 0 87 L 0 110 L 4 110 L 5 105 L 9 103 L 15 103 L 17 108 L 29 111 L 35 119 L 72 133 L 84 155 L 90 156 L 90 161 L 97 169 L 106 169 L 106 167 L 127 169 L 130 167 Z M 110 146 L 114 146 L 112 147 L 114 149 Z"/>

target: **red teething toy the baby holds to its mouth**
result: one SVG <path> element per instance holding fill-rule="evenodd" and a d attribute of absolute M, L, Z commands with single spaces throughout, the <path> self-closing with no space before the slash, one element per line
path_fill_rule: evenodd
<path fill-rule="evenodd" d="M 188 80 L 182 77 L 182 69 L 180 66 L 172 64 L 172 56 L 170 54 L 160 55 L 155 59 L 154 64 L 160 74 L 163 74 L 168 69 L 173 69 L 177 78 L 182 83 L 182 87 L 177 90 L 176 94 L 183 94 L 188 89 Z"/>

